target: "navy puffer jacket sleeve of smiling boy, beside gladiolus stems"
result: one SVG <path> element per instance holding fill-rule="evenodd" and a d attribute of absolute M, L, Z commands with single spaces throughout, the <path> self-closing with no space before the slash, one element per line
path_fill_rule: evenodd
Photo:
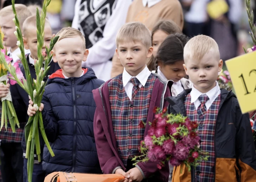
<path fill-rule="evenodd" d="M 45 134 L 50 142 L 53 142 L 57 136 L 58 123 L 54 117 L 52 111 L 52 105 L 45 92 L 43 93 L 42 103 L 44 105 L 42 111 L 43 127 L 45 128 Z"/>

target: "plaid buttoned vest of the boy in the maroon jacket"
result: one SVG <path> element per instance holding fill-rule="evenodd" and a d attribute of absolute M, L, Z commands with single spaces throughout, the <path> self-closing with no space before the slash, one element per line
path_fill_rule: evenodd
<path fill-rule="evenodd" d="M 140 128 L 139 124 L 141 121 L 147 121 L 156 78 L 151 74 L 145 87 L 140 87 L 131 101 L 123 87 L 122 76 L 113 78 L 108 83 L 113 129 L 119 156 L 125 166 L 128 158 L 139 154 L 138 147 L 144 138 L 145 131 L 145 128 Z"/>

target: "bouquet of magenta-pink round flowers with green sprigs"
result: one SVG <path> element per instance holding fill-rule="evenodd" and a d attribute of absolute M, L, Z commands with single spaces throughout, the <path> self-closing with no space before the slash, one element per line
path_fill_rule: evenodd
<path fill-rule="evenodd" d="M 140 144 L 141 155 L 132 160 L 135 164 L 150 160 L 156 162 L 159 169 L 166 162 L 173 166 L 184 163 L 190 171 L 191 166 L 196 167 L 202 160 L 208 160 L 207 156 L 203 156 L 207 153 L 199 148 L 198 124 L 182 114 L 167 114 L 166 110 L 164 108 L 160 112 L 159 108 L 154 109 L 155 119 Z M 145 123 L 141 122 L 140 127 L 145 127 Z"/>

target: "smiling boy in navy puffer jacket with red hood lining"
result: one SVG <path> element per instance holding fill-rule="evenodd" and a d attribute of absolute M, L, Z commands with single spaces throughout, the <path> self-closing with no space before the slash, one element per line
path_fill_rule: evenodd
<path fill-rule="evenodd" d="M 53 60 L 61 70 L 49 77 L 40 111 L 43 125 L 55 156 L 47 148 L 43 152 L 43 169 L 47 174 L 57 171 L 101 173 L 93 134 L 96 104 L 92 90 L 100 87 L 91 68 L 82 68 L 88 49 L 77 29 L 67 27 L 57 33 Z M 28 115 L 35 109 L 29 101 Z"/>

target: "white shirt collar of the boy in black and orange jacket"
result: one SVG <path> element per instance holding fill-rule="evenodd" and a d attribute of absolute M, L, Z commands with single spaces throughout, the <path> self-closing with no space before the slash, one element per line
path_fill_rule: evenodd
<path fill-rule="evenodd" d="M 218 82 L 216 81 L 216 86 L 205 93 L 209 97 L 209 100 L 211 103 L 213 103 L 213 101 L 216 99 L 216 95 L 219 94 L 219 91 L 220 91 L 220 86 L 219 86 Z M 192 90 L 190 92 L 191 103 L 194 103 L 198 99 L 198 97 L 201 95 L 203 95 L 203 93 L 200 92 L 199 90 L 197 90 L 193 85 Z"/>

